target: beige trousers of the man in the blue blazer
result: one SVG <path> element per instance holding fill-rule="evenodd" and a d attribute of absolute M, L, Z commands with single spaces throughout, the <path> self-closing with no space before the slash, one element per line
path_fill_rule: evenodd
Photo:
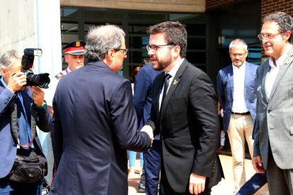
<path fill-rule="evenodd" d="M 235 192 L 238 192 L 239 189 L 246 182 L 244 167 L 245 138 L 248 143 L 251 158 L 253 157 L 253 119 L 251 117 L 251 114 L 231 114 L 231 119 L 227 132 L 231 144 L 231 152 L 233 157 L 234 187 Z"/>

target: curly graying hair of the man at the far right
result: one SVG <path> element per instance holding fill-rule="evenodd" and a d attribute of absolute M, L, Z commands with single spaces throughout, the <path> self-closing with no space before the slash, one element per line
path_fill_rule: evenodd
<path fill-rule="evenodd" d="M 276 22 L 279 25 L 279 31 L 284 35 L 285 32 L 290 31 L 291 35 L 288 39 L 289 43 L 293 43 L 293 18 L 285 12 L 276 12 L 265 16 L 263 23 Z"/>

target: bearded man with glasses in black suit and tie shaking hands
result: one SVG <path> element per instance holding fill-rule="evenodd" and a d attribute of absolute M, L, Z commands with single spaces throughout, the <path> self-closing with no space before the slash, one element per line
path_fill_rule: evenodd
<path fill-rule="evenodd" d="M 185 25 L 168 21 L 147 32 L 153 69 L 163 72 L 154 80 L 151 117 L 143 129 L 161 134 L 163 193 L 210 194 L 224 177 L 212 81 L 185 59 Z"/>

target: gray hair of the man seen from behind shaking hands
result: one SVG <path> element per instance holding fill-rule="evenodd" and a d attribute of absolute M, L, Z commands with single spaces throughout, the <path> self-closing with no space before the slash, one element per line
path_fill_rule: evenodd
<path fill-rule="evenodd" d="M 85 57 L 98 61 L 103 60 L 109 49 L 119 49 L 122 46 L 122 36 L 125 37 L 125 32 L 117 25 L 106 24 L 91 27 L 86 36 Z"/>

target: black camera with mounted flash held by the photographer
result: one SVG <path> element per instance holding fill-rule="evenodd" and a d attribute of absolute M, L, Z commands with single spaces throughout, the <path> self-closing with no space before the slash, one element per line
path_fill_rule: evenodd
<path fill-rule="evenodd" d="M 23 72 L 26 76 L 25 86 L 38 86 L 40 88 L 47 89 L 50 84 L 49 73 L 39 73 L 33 74 L 31 70 L 33 68 L 33 59 L 35 56 L 42 56 L 42 49 L 38 48 L 26 48 L 23 51 L 23 59 L 21 61 L 21 66 L 23 66 Z"/>

